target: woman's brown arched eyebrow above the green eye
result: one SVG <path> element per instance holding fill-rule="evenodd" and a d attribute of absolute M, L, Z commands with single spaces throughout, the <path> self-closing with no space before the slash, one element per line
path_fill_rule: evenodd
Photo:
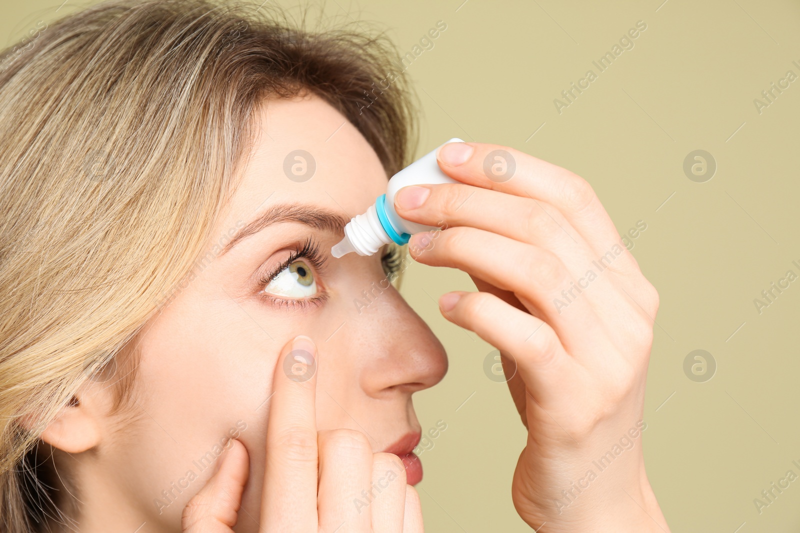
<path fill-rule="evenodd" d="M 264 213 L 259 215 L 258 218 L 240 229 L 234 237 L 230 239 L 230 242 L 222 249 L 222 253 L 219 255 L 227 253 L 245 237 L 249 237 L 254 233 L 260 232 L 262 229 L 282 222 L 300 222 L 314 229 L 338 234 L 344 231 L 344 227 L 350 222 L 350 218 L 336 213 L 335 211 L 317 207 L 316 205 L 272 205 Z"/>

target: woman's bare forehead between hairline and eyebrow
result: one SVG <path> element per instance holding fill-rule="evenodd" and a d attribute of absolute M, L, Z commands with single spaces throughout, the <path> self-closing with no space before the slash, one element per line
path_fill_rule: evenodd
<path fill-rule="evenodd" d="M 354 217 L 386 192 L 386 172 L 354 125 L 319 97 L 266 102 L 256 141 L 234 195 L 249 221 L 271 204 L 297 201 Z"/>

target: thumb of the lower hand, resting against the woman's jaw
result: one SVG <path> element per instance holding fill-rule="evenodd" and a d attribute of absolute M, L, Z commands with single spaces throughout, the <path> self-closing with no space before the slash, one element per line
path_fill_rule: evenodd
<path fill-rule="evenodd" d="M 230 448 L 217 463 L 218 470 L 183 508 L 181 531 L 185 533 L 234 531 L 231 527 L 238 519 L 248 474 L 249 460 L 244 444 L 230 440 Z"/>

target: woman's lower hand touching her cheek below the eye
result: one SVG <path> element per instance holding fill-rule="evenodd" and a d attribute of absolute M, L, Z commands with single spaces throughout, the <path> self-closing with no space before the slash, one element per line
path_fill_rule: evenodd
<path fill-rule="evenodd" d="M 419 496 L 406 485 L 397 455 L 373 453 L 360 432 L 317 431 L 317 355 L 313 341 L 298 336 L 275 367 L 259 531 L 422 533 Z M 248 456 L 241 442 L 230 443 L 218 470 L 186 505 L 182 531 L 233 532 Z"/>

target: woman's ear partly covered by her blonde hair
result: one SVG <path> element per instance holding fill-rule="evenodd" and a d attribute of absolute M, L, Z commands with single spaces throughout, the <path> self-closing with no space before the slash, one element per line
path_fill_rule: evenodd
<path fill-rule="evenodd" d="M 100 444 L 102 421 L 110 407 L 109 390 L 88 380 L 47 425 L 40 438 L 68 453 L 80 453 Z M 22 425 L 30 424 L 28 429 L 32 429 L 33 424 L 28 420 L 23 419 Z"/>

